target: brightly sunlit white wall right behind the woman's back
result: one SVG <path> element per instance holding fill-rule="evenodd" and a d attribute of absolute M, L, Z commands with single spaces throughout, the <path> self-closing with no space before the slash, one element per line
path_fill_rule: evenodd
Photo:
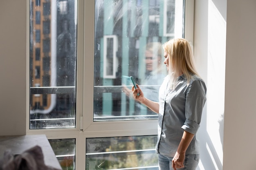
<path fill-rule="evenodd" d="M 195 0 L 194 54 L 207 82 L 200 139 L 200 170 L 222 170 L 225 104 L 226 0 Z"/>

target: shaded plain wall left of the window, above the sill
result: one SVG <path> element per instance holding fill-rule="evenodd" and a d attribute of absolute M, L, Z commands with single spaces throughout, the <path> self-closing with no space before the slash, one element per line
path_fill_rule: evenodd
<path fill-rule="evenodd" d="M 26 1 L 0 1 L 0 135 L 26 133 Z"/>

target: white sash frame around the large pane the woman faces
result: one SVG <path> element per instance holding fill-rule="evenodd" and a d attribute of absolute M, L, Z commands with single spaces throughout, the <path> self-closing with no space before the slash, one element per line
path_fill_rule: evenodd
<path fill-rule="evenodd" d="M 185 0 L 185 20 L 184 20 L 184 37 L 193 44 L 193 13 L 194 13 L 194 1 Z M 88 42 L 94 42 L 94 18 L 90 17 L 91 13 L 94 13 L 94 1 L 85 2 L 85 23 L 89 23 L 84 27 L 84 38 Z M 84 24 L 85 25 L 85 24 Z M 84 76 L 86 76 L 86 83 L 84 84 L 84 95 L 87 98 L 84 99 L 84 108 L 86 113 L 93 113 L 93 86 L 94 86 L 94 58 L 86 56 L 94 56 L 94 43 L 88 43 L 85 46 L 84 56 Z M 82 77 L 80 77 L 82 78 Z M 78 78 L 79 79 L 79 78 Z M 84 113 L 84 117 L 86 115 Z M 99 135 L 106 135 L 106 132 L 113 132 L 115 134 L 124 135 L 124 131 L 135 131 L 137 135 L 156 135 L 157 134 L 157 120 L 129 120 L 129 121 L 93 121 L 93 114 L 86 115 L 86 119 L 83 120 L 83 132 L 86 134 L 96 133 Z M 118 128 L 117 128 L 118 125 Z M 122 125 L 122 126 L 120 126 Z M 155 127 L 155 128 L 153 128 Z M 104 129 L 102 131 L 101 129 Z M 107 130 L 106 130 L 107 129 Z"/>

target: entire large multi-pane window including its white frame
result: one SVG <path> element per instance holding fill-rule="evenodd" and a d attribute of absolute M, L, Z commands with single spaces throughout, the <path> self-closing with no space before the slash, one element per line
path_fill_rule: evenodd
<path fill-rule="evenodd" d="M 158 115 L 129 96 L 130 76 L 156 98 L 159 47 L 193 37 L 192 1 L 30 2 L 27 134 L 45 134 L 63 169 L 156 170 Z"/>

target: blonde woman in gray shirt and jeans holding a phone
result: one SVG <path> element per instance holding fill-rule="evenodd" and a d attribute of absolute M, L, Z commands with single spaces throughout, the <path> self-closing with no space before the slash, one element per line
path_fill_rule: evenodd
<path fill-rule="evenodd" d="M 159 102 L 144 97 L 138 85 L 137 89 L 132 86 L 133 96 L 159 114 L 156 144 L 159 170 L 195 170 L 199 161 L 195 134 L 206 102 L 206 86 L 195 70 L 187 40 L 172 39 L 163 48 L 168 76 L 159 89 Z"/>

